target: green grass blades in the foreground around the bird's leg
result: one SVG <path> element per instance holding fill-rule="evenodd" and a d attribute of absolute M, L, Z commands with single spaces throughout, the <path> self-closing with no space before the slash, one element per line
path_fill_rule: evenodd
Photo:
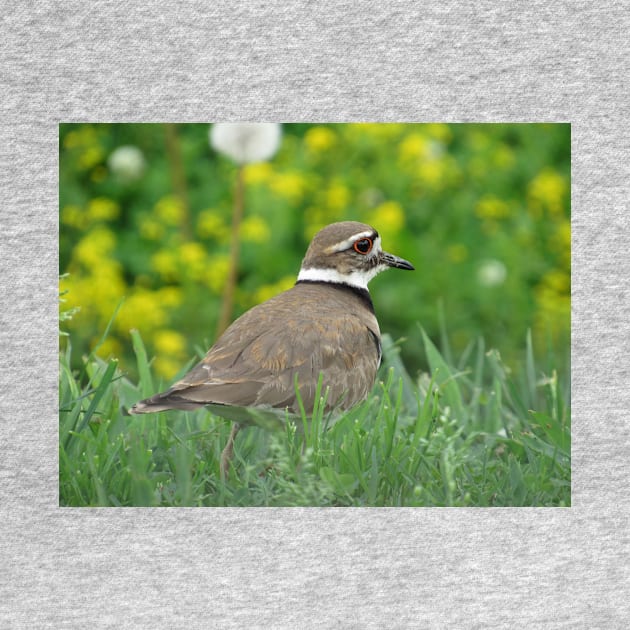
<path fill-rule="evenodd" d="M 568 383 L 537 365 L 531 339 L 518 377 L 483 340 L 457 360 L 424 332 L 430 374 L 412 378 L 384 339 L 369 399 L 332 426 L 321 412 L 285 430 L 241 431 L 227 481 L 228 422 L 205 410 L 126 415 L 155 393 L 133 334 L 139 383 L 92 353 L 60 354 L 62 506 L 569 506 Z M 182 370 L 184 371 L 184 370 Z"/>

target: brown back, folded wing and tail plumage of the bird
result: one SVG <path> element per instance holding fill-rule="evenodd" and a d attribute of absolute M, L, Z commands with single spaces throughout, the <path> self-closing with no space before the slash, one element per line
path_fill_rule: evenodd
<path fill-rule="evenodd" d="M 261 304 L 230 326 L 184 378 L 168 391 L 132 409 L 194 409 L 208 403 L 239 407 L 289 408 L 299 413 L 294 379 L 307 413 L 313 409 L 317 381 L 329 388 L 327 409 L 349 408 L 369 393 L 380 361 L 376 319 L 354 314 L 352 296 L 321 302 L 305 296 L 312 287 L 294 289 Z M 330 299 L 341 300 L 330 309 Z M 350 303 L 344 300 L 350 299 Z M 337 316 L 331 316 L 331 312 Z"/>

